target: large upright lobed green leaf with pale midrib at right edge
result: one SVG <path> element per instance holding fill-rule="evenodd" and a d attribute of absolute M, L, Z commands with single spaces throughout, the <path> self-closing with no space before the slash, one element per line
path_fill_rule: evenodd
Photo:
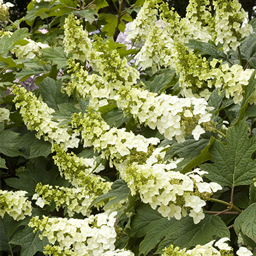
<path fill-rule="evenodd" d="M 205 176 L 221 186 L 248 185 L 256 177 L 256 159 L 252 154 L 256 150 L 256 138 L 248 139 L 248 125 L 243 120 L 228 128 L 227 143 L 214 141 L 209 149 L 214 164 L 202 164 L 200 168 Z"/>

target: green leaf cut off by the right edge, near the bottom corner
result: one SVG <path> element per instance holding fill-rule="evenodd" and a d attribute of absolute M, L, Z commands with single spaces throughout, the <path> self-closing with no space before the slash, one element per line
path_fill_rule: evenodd
<path fill-rule="evenodd" d="M 250 237 L 256 243 L 256 204 L 246 208 L 234 222 L 236 234 L 242 230 L 243 234 Z"/>

